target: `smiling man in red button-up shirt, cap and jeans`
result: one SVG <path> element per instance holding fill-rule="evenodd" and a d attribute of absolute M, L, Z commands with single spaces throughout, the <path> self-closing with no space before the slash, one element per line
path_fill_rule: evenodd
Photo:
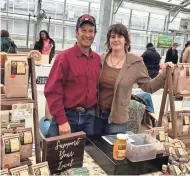
<path fill-rule="evenodd" d="M 94 132 L 100 74 L 100 56 L 90 48 L 95 34 L 94 17 L 79 17 L 77 43 L 62 51 L 54 61 L 44 90 L 50 114 L 55 117 L 48 136 L 77 131 L 92 135 Z"/>

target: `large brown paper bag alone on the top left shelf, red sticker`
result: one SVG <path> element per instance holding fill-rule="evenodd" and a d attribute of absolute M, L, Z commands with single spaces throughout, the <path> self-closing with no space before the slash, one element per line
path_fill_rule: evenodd
<path fill-rule="evenodd" d="M 7 98 L 28 97 L 28 61 L 26 55 L 7 55 L 5 96 Z"/>

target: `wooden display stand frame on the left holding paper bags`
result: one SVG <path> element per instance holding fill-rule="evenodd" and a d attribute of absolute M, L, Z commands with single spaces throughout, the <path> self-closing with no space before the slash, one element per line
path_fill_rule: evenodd
<path fill-rule="evenodd" d="M 27 57 L 27 56 L 26 56 Z M 28 59 L 29 64 L 29 79 L 31 80 L 32 98 L 6 98 L 1 94 L 1 110 L 11 110 L 13 104 L 33 103 L 33 124 L 34 124 L 34 140 L 35 140 L 35 155 L 36 163 L 41 162 L 41 149 L 40 149 L 40 134 L 39 134 L 39 117 L 38 117 L 38 100 L 36 88 L 36 73 L 34 58 Z M 26 163 L 24 163 L 26 164 Z"/>

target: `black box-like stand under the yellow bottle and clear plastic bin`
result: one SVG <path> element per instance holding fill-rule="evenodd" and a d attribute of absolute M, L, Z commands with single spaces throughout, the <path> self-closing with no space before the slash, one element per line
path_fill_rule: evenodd
<path fill-rule="evenodd" d="M 102 137 L 87 138 L 86 152 L 108 175 L 142 175 L 161 171 L 162 165 L 168 163 L 166 155 L 157 155 L 156 159 L 141 162 L 131 162 L 128 159 L 117 161 L 113 159 L 113 146 Z"/>

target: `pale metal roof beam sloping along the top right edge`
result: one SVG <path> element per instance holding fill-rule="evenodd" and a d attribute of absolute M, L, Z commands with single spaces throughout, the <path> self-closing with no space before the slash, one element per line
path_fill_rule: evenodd
<path fill-rule="evenodd" d="M 183 5 L 174 5 L 170 3 L 165 3 L 161 1 L 155 1 L 155 0 L 124 0 L 124 2 L 131 2 L 131 3 L 137 3 L 142 5 L 147 5 L 151 7 L 157 7 L 165 10 L 171 10 L 172 7 L 178 7 L 181 8 L 181 12 L 184 13 L 190 13 L 190 9 L 184 8 Z"/>

